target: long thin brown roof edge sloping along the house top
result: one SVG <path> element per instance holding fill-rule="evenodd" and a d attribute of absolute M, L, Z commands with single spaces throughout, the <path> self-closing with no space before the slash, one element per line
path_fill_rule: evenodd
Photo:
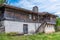
<path fill-rule="evenodd" d="M 18 10 L 18 11 L 23 11 L 23 12 L 26 12 L 26 13 L 29 13 L 29 14 L 36 14 L 36 15 L 47 15 L 47 14 L 49 14 L 49 15 L 57 17 L 56 15 L 50 14 L 48 12 L 33 12 L 31 10 L 27 10 L 27 9 L 24 9 L 24 8 L 14 7 L 14 6 L 7 5 L 7 4 L 0 4 L 0 7 L 5 7 L 5 8 L 10 8 L 10 9 Z"/>

